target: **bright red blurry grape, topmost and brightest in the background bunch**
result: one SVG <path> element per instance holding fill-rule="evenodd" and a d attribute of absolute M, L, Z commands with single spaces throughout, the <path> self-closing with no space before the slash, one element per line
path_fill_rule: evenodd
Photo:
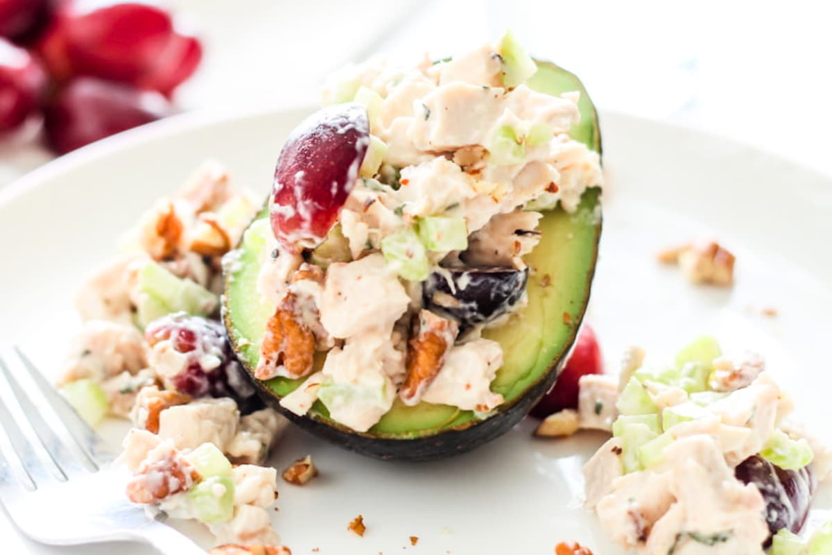
<path fill-rule="evenodd" d="M 67 0 L 39 44 L 59 80 L 85 75 L 170 94 L 196 70 L 200 42 L 152 2 Z"/>

